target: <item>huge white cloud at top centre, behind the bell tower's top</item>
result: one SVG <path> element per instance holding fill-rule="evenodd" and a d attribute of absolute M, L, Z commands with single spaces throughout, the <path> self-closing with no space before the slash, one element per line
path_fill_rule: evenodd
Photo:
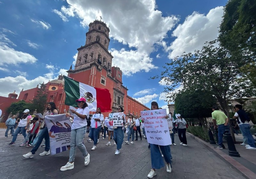
<path fill-rule="evenodd" d="M 162 12 L 156 10 L 155 0 L 67 2 L 68 7 L 61 7 L 63 15 L 78 17 L 86 28 L 95 17 L 100 19 L 102 16 L 102 21 L 107 22 L 110 28 L 109 36 L 133 48 L 111 50 L 115 57 L 113 64 L 118 65 L 125 75 L 157 68 L 149 56 L 155 51 L 155 44 L 161 42 L 179 20 L 175 16 L 163 17 Z"/>

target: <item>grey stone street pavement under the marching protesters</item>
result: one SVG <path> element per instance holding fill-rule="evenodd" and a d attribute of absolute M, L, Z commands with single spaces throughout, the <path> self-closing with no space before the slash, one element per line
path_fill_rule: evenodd
<path fill-rule="evenodd" d="M 100 137 L 97 150 L 91 151 L 92 143 L 88 143 L 86 134 L 84 143 L 90 153 L 90 163 L 84 166 L 84 157 L 77 149 L 75 168 L 60 171 L 60 167 L 68 162 L 69 151 L 56 155 L 39 156 L 44 151 L 40 147 L 33 159 L 22 157 L 31 150 L 30 147 L 20 147 L 24 139 L 22 135 L 17 137 L 15 145 L 6 146 L 12 137 L 4 137 L 5 129 L 0 129 L 0 178 L 2 179 L 29 179 L 29 178 L 86 178 L 86 179 L 143 179 L 151 169 L 150 150 L 148 143 L 134 141 L 134 144 L 125 144 L 119 155 L 114 155 L 116 145 L 111 140 L 111 146 L 106 146 L 107 139 Z M 126 136 L 124 136 L 126 139 Z M 180 145 L 178 135 L 175 135 L 176 146 L 171 146 L 172 173 L 166 172 L 166 167 L 156 170 L 155 179 L 244 179 L 244 175 L 237 171 L 212 152 L 201 142 L 187 135 L 188 146 Z M 125 141 L 125 140 L 124 140 Z M 131 140 L 130 140 L 131 141 Z"/>

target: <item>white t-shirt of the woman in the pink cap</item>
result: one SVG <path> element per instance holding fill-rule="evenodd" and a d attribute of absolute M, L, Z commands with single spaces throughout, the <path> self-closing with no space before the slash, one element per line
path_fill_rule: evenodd
<path fill-rule="evenodd" d="M 79 114 L 83 114 L 83 115 L 86 115 L 87 118 L 89 117 L 89 113 L 90 113 L 90 110 L 88 107 L 85 107 L 84 109 L 82 108 L 78 108 L 76 110 L 77 113 Z M 80 117 L 76 116 L 74 117 L 74 120 L 73 120 L 73 124 L 71 126 L 71 129 L 78 129 L 78 128 L 82 128 L 84 126 L 87 126 L 87 121 L 86 121 L 86 118 L 85 119 L 81 119 Z"/>

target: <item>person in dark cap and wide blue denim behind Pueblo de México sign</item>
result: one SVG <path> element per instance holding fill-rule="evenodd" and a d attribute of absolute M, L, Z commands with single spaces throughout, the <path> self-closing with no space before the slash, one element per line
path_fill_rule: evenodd
<path fill-rule="evenodd" d="M 151 103 L 151 110 L 159 109 L 158 104 L 153 101 Z M 168 116 L 165 117 L 166 119 Z M 144 120 L 142 119 L 141 122 L 144 123 Z M 153 178 L 156 175 L 156 169 L 160 169 L 164 167 L 164 160 L 166 162 L 166 171 L 168 173 L 172 172 L 171 169 L 171 148 L 170 145 L 156 145 L 156 144 L 149 144 L 150 145 L 150 154 L 151 154 L 151 167 L 148 174 L 148 178 Z M 160 149 L 162 151 L 162 154 L 164 155 L 164 160 L 162 158 L 162 154 L 160 152 Z"/>

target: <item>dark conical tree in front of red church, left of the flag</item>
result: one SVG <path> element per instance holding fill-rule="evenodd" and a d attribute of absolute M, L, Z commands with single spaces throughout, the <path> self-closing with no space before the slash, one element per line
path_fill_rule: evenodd
<path fill-rule="evenodd" d="M 38 113 L 43 113 L 47 104 L 48 91 L 44 82 L 39 84 L 40 88 L 38 88 L 36 96 L 31 101 L 31 110 L 36 109 Z"/>

